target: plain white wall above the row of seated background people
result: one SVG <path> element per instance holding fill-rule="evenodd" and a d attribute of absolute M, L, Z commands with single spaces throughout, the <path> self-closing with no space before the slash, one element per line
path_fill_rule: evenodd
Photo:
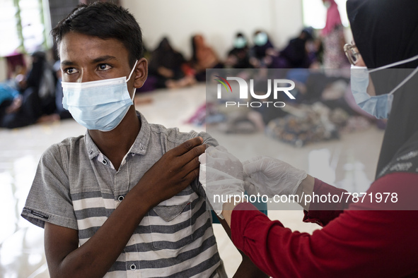
<path fill-rule="evenodd" d="M 276 47 L 284 47 L 303 28 L 301 0 L 122 0 L 122 6 L 137 18 L 146 47 L 154 49 L 166 35 L 187 58 L 196 33 L 224 58 L 238 31 L 250 39 L 265 30 Z"/>

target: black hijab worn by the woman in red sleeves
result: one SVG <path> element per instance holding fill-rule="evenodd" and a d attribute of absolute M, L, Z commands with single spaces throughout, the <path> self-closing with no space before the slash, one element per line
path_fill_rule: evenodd
<path fill-rule="evenodd" d="M 378 68 L 418 54 L 418 1 L 348 0 L 347 14 L 354 42 L 368 68 Z M 390 92 L 417 68 L 418 60 L 371 74 L 376 94 Z M 405 154 L 418 150 L 418 74 L 400 87 L 393 99 L 376 177 Z M 403 154 L 403 156 L 402 156 Z M 415 170 L 415 169 L 411 169 Z"/>

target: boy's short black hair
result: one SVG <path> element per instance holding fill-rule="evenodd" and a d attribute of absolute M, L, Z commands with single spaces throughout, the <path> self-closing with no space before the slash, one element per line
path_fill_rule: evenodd
<path fill-rule="evenodd" d="M 68 32 L 100 37 L 103 40 L 119 40 L 129 52 L 129 66 L 134 66 L 135 61 L 144 54 L 141 28 L 137 20 L 126 8 L 115 4 L 95 2 L 74 8 L 51 31 L 58 47 Z"/>

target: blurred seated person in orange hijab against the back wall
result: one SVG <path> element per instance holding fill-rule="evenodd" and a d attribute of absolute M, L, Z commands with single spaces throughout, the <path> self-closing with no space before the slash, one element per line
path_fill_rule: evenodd
<path fill-rule="evenodd" d="M 195 70 L 195 77 L 198 81 L 206 80 L 207 68 L 223 68 L 223 64 L 216 56 L 214 49 L 211 49 L 202 35 L 194 35 L 192 37 L 192 60 L 190 65 Z"/>

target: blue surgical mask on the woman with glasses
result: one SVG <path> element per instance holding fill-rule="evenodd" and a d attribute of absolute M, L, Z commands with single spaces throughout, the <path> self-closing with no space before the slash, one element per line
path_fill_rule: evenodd
<path fill-rule="evenodd" d="M 407 76 L 407 78 L 405 78 L 405 80 L 403 80 L 388 94 L 376 95 L 373 97 L 367 93 L 367 87 L 369 83 L 368 74 L 374 71 L 383 70 L 384 68 L 391 68 L 393 66 L 406 64 L 417 59 L 418 56 L 414 56 L 410 59 L 398 61 L 396 63 L 382 66 L 380 68 L 375 68 L 371 71 L 368 71 L 368 69 L 364 66 L 352 66 L 351 85 L 356 104 L 359 105 L 359 107 L 366 111 L 368 114 L 375 116 L 377 119 L 388 119 L 390 110 L 392 109 L 393 93 L 402 87 L 402 85 L 407 83 L 407 81 L 410 80 L 415 75 L 415 73 L 418 72 L 418 68 L 416 68 L 410 75 Z"/>

